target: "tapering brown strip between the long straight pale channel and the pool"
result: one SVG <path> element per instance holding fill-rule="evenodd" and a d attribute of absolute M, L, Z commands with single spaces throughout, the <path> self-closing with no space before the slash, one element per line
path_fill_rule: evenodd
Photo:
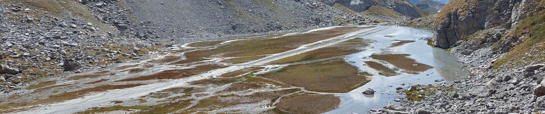
<path fill-rule="evenodd" d="M 271 64 L 294 63 L 302 61 L 310 61 L 316 59 L 330 58 L 336 56 L 350 55 L 352 53 L 364 50 L 373 41 L 369 39 L 354 38 L 348 41 L 337 43 L 325 48 L 307 51 L 295 56 L 278 59 L 270 62 Z"/>

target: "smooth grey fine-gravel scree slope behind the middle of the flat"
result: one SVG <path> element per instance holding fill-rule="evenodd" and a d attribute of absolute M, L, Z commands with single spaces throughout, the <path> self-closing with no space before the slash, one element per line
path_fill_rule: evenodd
<path fill-rule="evenodd" d="M 313 0 L 120 1 L 130 9 L 136 31 L 155 39 L 185 42 L 353 24 L 361 16 Z"/>

